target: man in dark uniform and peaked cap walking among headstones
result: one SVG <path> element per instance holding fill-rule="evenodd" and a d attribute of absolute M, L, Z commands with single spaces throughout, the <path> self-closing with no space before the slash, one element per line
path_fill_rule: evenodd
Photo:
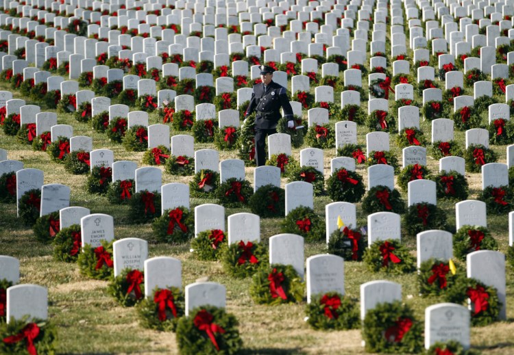
<path fill-rule="evenodd" d="M 266 136 L 277 133 L 277 123 L 280 120 L 280 107 L 284 110 L 289 128 L 294 127 L 293 109 L 286 95 L 286 88 L 273 82 L 273 68 L 260 66 L 262 83 L 254 86 L 250 104 L 246 109 L 245 119 L 256 111 L 255 116 L 255 153 L 257 166 L 266 163 Z"/>

